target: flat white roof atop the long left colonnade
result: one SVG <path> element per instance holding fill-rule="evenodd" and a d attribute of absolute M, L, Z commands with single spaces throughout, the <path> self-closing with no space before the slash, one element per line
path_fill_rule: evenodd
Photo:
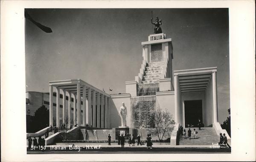
<path fill-rule="evenodd" d="M 91 89 L 91 96 L 93 96 L 93 91 L 99 92 L 102 95 L 110 97 L 110 95 L 81 79 L 70 79 L 70 80 L 61 80 L 61 81 L 49 81 L 49 86 L 58 87 L 64 91 L 71 92 L 77 95 L 77 84 L 80 84 L 80 95 L 83 95 L 83 86 L 86 87 L 86 97 L 88 97 L 89 89 Z"/>

